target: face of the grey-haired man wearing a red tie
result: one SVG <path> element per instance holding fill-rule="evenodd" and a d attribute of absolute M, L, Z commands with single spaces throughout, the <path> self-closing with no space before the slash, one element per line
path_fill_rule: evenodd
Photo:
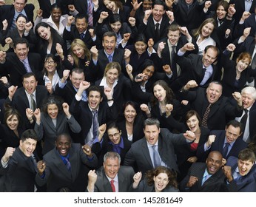
<path fill-rule="evenodd" d="M 111 179 L 115 178 L 115 175 L 118 174 L 118 170 L 120 169 L 119 160 L 117 157 L 115 159 L 108 158 L 104 163 L 104 172 L 107 174 L 107 177 Z"/>

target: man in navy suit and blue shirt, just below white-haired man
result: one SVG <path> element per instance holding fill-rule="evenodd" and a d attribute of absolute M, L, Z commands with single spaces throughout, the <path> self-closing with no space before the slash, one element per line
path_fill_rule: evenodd
<path fill-rule="evenodd" d="M 242 135 L 242 124 L 232 120 L 226 124 L 225 130 L 213 130 L 203 148 L 198 149 L 197 155 L 207 155 L 209 152 L 218 151 L 223 157 L 223 162 L 230 156 L 238 157 L 242 149 L 246 149 L 247 144 L 239 138 Z"/>

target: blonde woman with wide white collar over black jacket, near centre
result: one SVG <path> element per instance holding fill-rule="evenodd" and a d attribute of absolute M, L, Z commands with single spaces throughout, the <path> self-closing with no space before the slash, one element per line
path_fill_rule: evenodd
<path fill-rule="evenodd" d="M 121 74 L 121 66 L 118 62 L 107 64 L 104 77 L 96 81 L 95 85 L 111 89 L 118 112 L 121 112 L 121 107 L 126 101 L 131 100 L 131 81 Z M 103 100 L 107 101 L 106 95 L 104 95 Z"/>

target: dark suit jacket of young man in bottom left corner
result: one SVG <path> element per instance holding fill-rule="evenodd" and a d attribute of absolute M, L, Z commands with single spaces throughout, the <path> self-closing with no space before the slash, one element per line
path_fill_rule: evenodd
<path fill-rule="evenodd" d="M 6 174 L 7 191 L 10 192 L 33 192 L 36 184 L 36 166 L 32 157 L 27 157 L 16 148 L 13 156 L 10 157 L 8 166 L 4 169 L 0 163 L 0 174 Z"/>

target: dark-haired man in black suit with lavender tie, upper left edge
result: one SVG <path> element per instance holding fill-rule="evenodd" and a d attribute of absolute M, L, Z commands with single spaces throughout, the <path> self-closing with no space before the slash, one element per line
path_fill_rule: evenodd
<path fill-rule="evenodd" d="M 25 38 L 17 38 L 13 45 L 14 52 L 0 51 L 1 72 L 10 76 L 10 83 L 22 86 L 22 76 L 33 72 L 38 78 L 41 75 L 41 57 L 37 53 L 30 53 L 29 44 Z"/>

